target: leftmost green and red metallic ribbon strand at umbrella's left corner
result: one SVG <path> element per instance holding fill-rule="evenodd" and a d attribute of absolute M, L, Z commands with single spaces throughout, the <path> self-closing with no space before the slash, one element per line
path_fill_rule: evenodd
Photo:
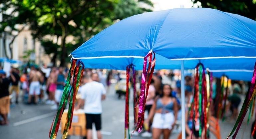
<path fill-rule="evenodd" d="M 67 104 L 67 99 L 68 99 L 68 95 L 69 95 L 68 93 L 69 93 L 69 87 L 70 87 L 70 80 L 71 80 L 71 77 L 72 77 L 73 72 L 74 72 L 75 63 L 76 63 L 76 60 L 73 59 L 72 63 L 71 63 L 71 67 L 70 67 L 68 75 L 67 75 L 67 80 L 66 80 L 66 83 L 65 83 L 65 86 L 64 86 L 64 91 L 63 91 L 63 95 L 62 95 L 62 98 L 61 98 L 61 101 L 60 101 L 60 105 L 59 105 L 58 111 L 57 111 L 57 113 L 56 113 L 56 115 L 53 119 L 53 122 L 52 122 L 52 125 L 51 125 L 51 128 L 50 128 L 50 132 L 49 132 L 49 138 L 50 139 L 55 139 L 56 136 L 57 136 L 58 130 L 59 130 L 61 116 L 63 115 L 64 109 L 65 109 L 66 104 Z"/>

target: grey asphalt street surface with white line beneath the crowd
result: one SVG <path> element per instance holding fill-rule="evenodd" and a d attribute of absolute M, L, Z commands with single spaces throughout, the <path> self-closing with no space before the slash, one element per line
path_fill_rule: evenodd
<path fill-rule="evenodd" d="M 132 99 L 130 101 L 132 105 Z M 102 136 L 103 139 L 122 139 L 124 138 L 124 110 L 125 99 L 117 99 L 113 86 L 107 94 L 107 98 L 102 102 Z M 50 109 L 50 105 L 25 105 L 19 103 L 11 106 L 9 116 L 9 125 L 0 126 L 1 139 L 47 139 L 49 129 L 56 111 Z M 130 108 L 130 121 L 133 120 L 132 107 Z M 247 120 L 247 116 L 245 117 Z M 234 120 L 227 119 L 219 121 L 221 138 L 226 138 L 231 131 Z M 250 127 L 243 122 L 237 138 L 250 138 Z M 130 128 L 133 129 L 132 127 Z M 61 131 L 58 132 L 57 139 L 61 138 Z M 94 134 L 95 135 L 95 134 Z M 178 134 L 172 134 L 170 138 L 177 138 Z M 211 138 L 213 135 L 210 135 Z M 71 136 L 71 139 L 78 139 L 77 136 Z M 132 136 L 133 139 L 141 139 L 141 136 Z"/>

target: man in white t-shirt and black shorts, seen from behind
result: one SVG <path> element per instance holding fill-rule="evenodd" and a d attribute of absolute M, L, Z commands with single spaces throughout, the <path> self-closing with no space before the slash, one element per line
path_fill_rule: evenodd
<path fill-rule="evenodd" d="M 92 138 L 92 123 L 95 123 L 98 139 L 102 138 L 100 133 L 102 113 L 101 100 L 106 98 L 106 90 L 104 85 L 97 81 L 97 73 L 92 73 L 91 76 L 83 76 L 83 82 L 86 83 L 79 89 L 81 97 L 76 106 L 76 109 L 78 109 L 80 106 L 83 106 L 86 117 L 87 139 Z"/>

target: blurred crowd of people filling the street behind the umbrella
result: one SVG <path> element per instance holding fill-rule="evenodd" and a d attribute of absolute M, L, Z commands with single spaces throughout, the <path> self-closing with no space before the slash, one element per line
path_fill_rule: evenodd
<path fill-rule="evenodd" d="M 64 90 L 68 69 L 63 67 L 36 68 L 31 66 L 22 70 L 11 68 L 9 73 L 0 70 L 0 114 L 1 125 L 8 124 L 7 114 L 10 111 L 10 103 L 20 103 L 22 101 L 28 105 L 38 103 L 49 104 L 51 109 L 57 110 Z M 140 72 L 137 73 L 137 82 L 141 78 Z M 8 76 L 7 76 L 8 74 Z M 77 101 L 75 110 L 83 109 L 86 115 L 87 138 L 91 138 L 92 123 L 95 123 L 97 136 L 100 139 L 101 129 L 101 101 L 106 98 L 111 79 L 120 80 L 121 74 L 116 70 L 92 70 L 85 69 L 78 90 L 80 99 Z M 148 97 L 146 100 L 146 113 L 144 122 L 143 137 L 160 138 L 163 134 L 164 139 L 168 139 L 177 126 L 177 121 L 181 120 L 181 82 L 180 73 L 156 71 L 150 82 Z M 217 81 L 213 80 L 213 100 L 217 94 Z M 244 82 L 232 82 L 230 95 L 228 97 L 226 112 L 231 118 L 238 115 L 238 106 L 241 102 L 239 94 L 243 92 L 246 85 Z M 21 90 L 20 90 L 21 89 Z M 140 90 L 137 87 L 138 91 Z M 132 90 L 132 89 L 131 89 Z M 186 96 L 186 134 L 190 137 L 193 131 L 194 138 L 199 138 L 197 126 L 192 127 L 192 119 L 188 116 L 188 107 L 192 101 L 193 77 L 185 77 L 185 96 Z M 14 92 L 14 93 L 13 93 Z M 22 94 L 19 94 L 22 92 Z M 9 95 L 15 94 L 10 100 Z M 230 110 L 230 111 L 229 111 Z M 212 113 L 214 115 L 214 113 Z M 215 114 L 216 115 L 216 114 Z M 197 125 L 197 123 L 194 123 Z M 202 133 L 203 134 L 203 133 Z M 138 135 L 136 131 L 133 135 Z"/>

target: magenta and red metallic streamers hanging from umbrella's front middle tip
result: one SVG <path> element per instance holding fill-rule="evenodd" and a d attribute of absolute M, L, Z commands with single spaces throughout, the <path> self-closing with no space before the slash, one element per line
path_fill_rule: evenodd
<path fill-rule="evenodd" d="M 152 61 L 152 54 L 154 55 L 153 61 Z M 147 68 L 147 61 L 149 58 L 148 68 Z M 145 103 L 148 95 L 148 87 L 154 72 L 155 68 L 155 53 L 150 51 L 146 57 L 144 57 L 144 63 L 143 63 L 143 71 L 142 71 L 142 78 L 141 78 L 141 92 L 139 100 L 136 104 L 136 107 L 139 103 L 139 111 L 138 111 L 138 122 L 137 127 L 134 131 L 138 129 L 138 132 L 141 132 L 143 121 L 144 121 L 144 113 L 145 113 Z M 147 70 L 146 70 L 147 69 Z M 148 85 L 146 88 L 146 81 L 148 80 Z M 145 90 L 146 89 L 146 90 Z M 133 131 L 133 132 L 134 132 Z"/>

